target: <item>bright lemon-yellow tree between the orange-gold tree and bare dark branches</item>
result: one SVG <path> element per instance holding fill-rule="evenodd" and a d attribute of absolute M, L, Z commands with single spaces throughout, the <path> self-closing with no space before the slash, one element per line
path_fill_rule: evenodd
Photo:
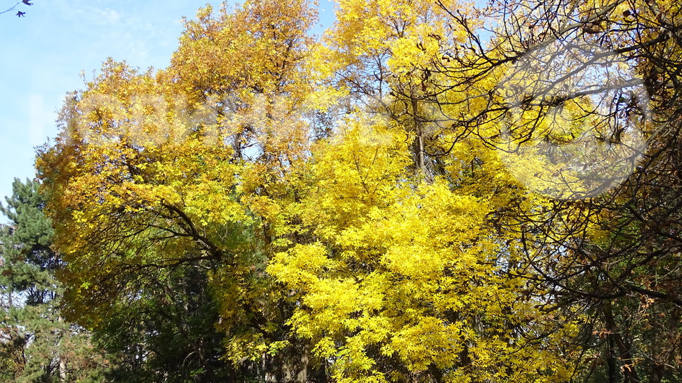
<path fill-rule="evenodd" d="M 526 285 L 521 238 L 503 230 L 509 204 L 541 200 L 452 129 L 470 89 L 452 87 L 449 106 L 429 99 L 448 80 L 443 51 L 466 42 L 451 17 L 428 2 L 343 1 L 328 34 L 338 88 L 362 111 L 313 151 L 296 209 L 314 241 L 268 270 L 302 295 L 294 327 L 338 381 L 562 381 L 577 357 L 557 339 L 580 316 Z"/>

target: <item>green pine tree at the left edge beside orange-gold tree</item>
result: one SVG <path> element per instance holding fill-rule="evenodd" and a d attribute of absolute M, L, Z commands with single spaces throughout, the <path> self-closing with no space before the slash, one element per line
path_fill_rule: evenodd
<path fill-rule="evenodd" d="M 60 259 L 38 181 L 15 179 L 0 204 L 0 382 L 99 382 L 106 360 L 58 312 Z"/>

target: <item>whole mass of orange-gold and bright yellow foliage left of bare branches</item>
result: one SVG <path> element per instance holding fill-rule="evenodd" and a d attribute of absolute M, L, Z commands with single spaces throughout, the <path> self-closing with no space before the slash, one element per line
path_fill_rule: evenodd
<path fill-rule="evenodd" d="M 500 125 L 510 119 L 482 122 L 478 136 L 447 125 L 499 101 L 469 95 L 505 68 L 475 84 L 431 74 L 457 65 L 443 55 L 466 37 L 447 10 L 473 15 L 443 6 L 340 1 L 326 44 L 306 34 L 306 1 L 207 7 L 166 70 L 106 63 L 38 161 L 70 315 L 94 326 L 111 301 L 134 299 L 120 273 L 209 260 L 235 363 L 306 339 L 339 383 L 568 380 L 573 313 L 546 309 L 520 266 L 520 231 L 503 225 L 515 223 L 510 204 L 546 200 L 490 145 L 505 128 L 512 144 L 534 133 Z M 312 137 L 315 113 L 365 89 L 367 110 L 349 101 L 333 133 Z M 539 122 L 540 138 L 579 130 L 564 119 L 551 131 L 532 109 L 514 118 Z"/>

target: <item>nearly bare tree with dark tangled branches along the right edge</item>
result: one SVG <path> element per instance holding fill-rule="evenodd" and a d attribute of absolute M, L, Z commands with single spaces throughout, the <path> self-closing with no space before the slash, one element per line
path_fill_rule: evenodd
<path fill-rule="evenodd" d="M 422 68 L 447 79 L 429 101 L 466 104 L 447 113 L 453 131 L 547 198 L 514 201 L 509 229 L 538 286 L 587 308 L 586 375 L 679 380 L 679 6 L 493 1 L 470 17 L 440 4 L 467 37 Z"/>

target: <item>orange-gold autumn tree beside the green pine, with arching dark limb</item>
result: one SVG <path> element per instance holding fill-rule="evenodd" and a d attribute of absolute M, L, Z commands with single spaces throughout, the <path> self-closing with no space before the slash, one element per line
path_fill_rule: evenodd
<path fill-rule="evenodd" d="M 319 105 L 308 97 L 314 20 L 302 1 L 205 8 L 187 21 L 167 70 L 110 61 L 70 99 L 38 165 L 67 263 L 68 318 L 102 332 L 116 307 L 180 298 L 168 295 L 183 286 L 177 278 L 199 268 L 193 283 L 211 300 L 182 299 L 200 303 L 201 325 L 219 311 L 214 324 L 235 368 L 306 381 L 307 345 L 287 325 L 296 302 L 264 268 L 276 236 L 270 201 L 294 198 L 280 185 L 306 156 L 306 113 Z M 159 284 L 171 291 L 150 293 Z M 194 320 L 186 310 L 173 314 L 187 321 L 178 329 Z M 197 330 L 187 338 L 202 348 L 193 355 L 212 358 Z"/>

